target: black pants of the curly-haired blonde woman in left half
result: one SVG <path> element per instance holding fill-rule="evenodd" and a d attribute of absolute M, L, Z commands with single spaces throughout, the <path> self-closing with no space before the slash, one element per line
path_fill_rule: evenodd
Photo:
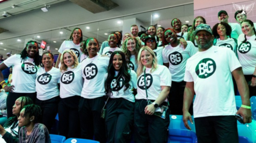
<path fill-rule="evenodd" d="M 58 104 L 59 134 L 66 138 L 81 138 L 78 113 L 80 98 L 80 96 L 61 98 Z"/>

